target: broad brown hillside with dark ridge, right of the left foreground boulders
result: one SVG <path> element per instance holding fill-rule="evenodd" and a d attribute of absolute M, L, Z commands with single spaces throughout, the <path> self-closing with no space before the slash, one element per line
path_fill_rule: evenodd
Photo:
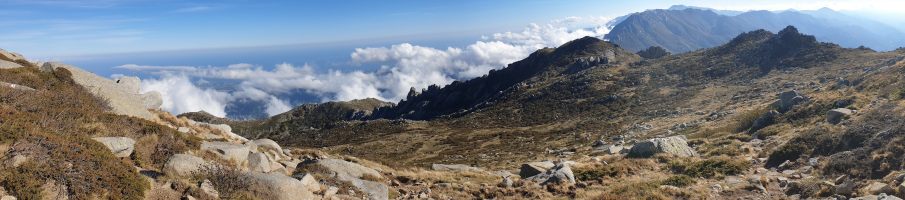
<path fill-rule="evenodd" d="M 548 192 L 579 199 L 901 195 L 889 187 L 905 174 L 901 147 L 881 141 L 905 139 L 903 72 L 903 50 L 843 48 L 795 27 L 656 59 L 582 38 L 369 118 L 240 134 L 392 168 L 522 173 L 566 160 L 574 185 Z"/>

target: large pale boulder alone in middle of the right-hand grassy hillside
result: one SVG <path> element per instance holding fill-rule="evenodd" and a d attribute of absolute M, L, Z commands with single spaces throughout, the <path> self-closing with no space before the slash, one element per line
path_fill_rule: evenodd
<path fill-rule="evenodd" d="M 666 153 L 679 157 L 693 157 L 698 153 L 688 146 L 684 137 L 672 136 L 654 138 L 635 144 L 629 151 L 629 157 L 651 157 L 654 154 Z"/>

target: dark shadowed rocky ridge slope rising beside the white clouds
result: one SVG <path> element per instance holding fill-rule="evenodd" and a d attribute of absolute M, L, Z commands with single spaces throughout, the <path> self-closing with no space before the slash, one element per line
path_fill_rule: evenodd
<path fill-rule="evenodd" d="M 488 75 L 454 82 L 446 87 L 430 87 L 409 97 L 395 107 L 375 111 L 373 118 L 431 119 L 450 114 L 465 114 L 476 108 L 492 104 L 494 100 L 526 80 L 560 73 L 575 73 L 598 65 L 618 65 L 633 62 L 637 56 L 603 42 L 585 37 L 556 49 L 542 49 L 528 58 L 512 63 L 507 68 L 491 71 Z"/>

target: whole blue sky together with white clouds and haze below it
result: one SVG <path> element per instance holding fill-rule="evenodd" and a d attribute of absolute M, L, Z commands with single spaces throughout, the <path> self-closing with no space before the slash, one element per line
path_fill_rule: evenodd
<path fill-rule="evenodd" d="M 237 102 L 267 115 L 300 103 L 378 98 L 500 69 L 646 9 L 829 7 L 905 25 L 896 0 L 0 0 L 0 48 L 141 76 L 173 113 L 227 116 Z M 903 27 L 903 26 L 900 26 Z M 224 85 L 223 83 L 228 83 Z"/>

